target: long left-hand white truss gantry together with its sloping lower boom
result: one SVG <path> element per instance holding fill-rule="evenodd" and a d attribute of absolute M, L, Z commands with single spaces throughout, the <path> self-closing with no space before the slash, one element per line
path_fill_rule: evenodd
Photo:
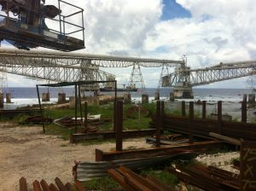
<path fill-rule="evenodd" d="M 90 55 L 44 50 L 0 49 L 0 72 L 54 82 L 106 81 L 115 78 L 100 67 L 181 67 L 183 61 Z"/>

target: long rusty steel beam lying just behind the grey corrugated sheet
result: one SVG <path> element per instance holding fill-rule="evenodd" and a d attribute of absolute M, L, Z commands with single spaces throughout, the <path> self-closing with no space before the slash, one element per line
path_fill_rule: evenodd
<path fill-rule="evenodd" d="M 197 153 L 207 153 L 211 149 L 222 148 L 223 143 L 218 141 L 183 143 L 178 146 L 163 146 L 161 148 L 141 148 L 137 150 L 109 151 L 103 152 L 96 149 L 96 161 L 110 161 L 116 159 L 137 159 L 170 155 L 184 150 L 193 150 Z"/>

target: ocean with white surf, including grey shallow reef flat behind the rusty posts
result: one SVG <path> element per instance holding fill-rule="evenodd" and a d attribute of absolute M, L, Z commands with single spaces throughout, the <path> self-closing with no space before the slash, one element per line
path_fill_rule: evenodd
<path fill-rule="evenodd" d="M 5 90 L 6 91 L 6 90 Z M 156 88 L 146 89 L 149 101 L 154 100 L 154 93 L 157 91 Z M 223 101 L 223 113 L 230 114 L 233 119 L 241 120 L 241 102 L 243 94 L 250 94 L 248 89 L 199 89 L 195 88 L 194 99 L 183 99 L 184 101 L 207 101 L 207 114 L 217 112 L 217 101 Z M 3 109 L 15 109 L 17 107 L 24 107 L 27 105 L 38 104 L 38 95 L 36 88 L 9 88 L 9 92 L 12 96 L 12 103 L 4 104 Z M 50 101 L 43 103 L 54 103 L 57 101 L 58 93 L 66 93 L 68 99 L 69 96 L 74 96 L 73 88 L 40 88 L 39 94 L 49 92 Z M 168 100 L 170 92 L 172 90 L 169 88 L 160 89 L 160 100 Z M 4 92 L 6 93 L 6 92 Z M 142 94 L 145 92 L 131 92 L 131 99 L 133 102 L 137 103 L 141 101 Z M 93 96 L 94 92 L 86 92 L 86 96 Z M 113 92 L 101 92 L 102 95 L 113 95 Z M 123 95 L 125 92 L 118 92 L 118 95 Z M 173 110 L 181 110 L 180 101 L 166 102 L 166 107 Z M 186 103 L 186 110 L 189 112 L 189 102 Z M 201 105 L 195 104 L 195 111 L 201 113 Z M 247 110 L 248 121 L 255 121 L 255 109 L 249 108 Z"/>

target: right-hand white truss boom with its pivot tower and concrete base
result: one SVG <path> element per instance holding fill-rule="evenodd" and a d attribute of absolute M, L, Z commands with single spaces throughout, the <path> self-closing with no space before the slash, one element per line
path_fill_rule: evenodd
<path fill-rule="evenodd" d="M 193 86 L 255 74 L 256 61 L 221 62 L 213 67 L 199 69 L 177 67 L 175 72 L 161 78 L 161 84 L 163 87 L 173 87 L 174 96 L 177 98 L 192 98 Z"/>

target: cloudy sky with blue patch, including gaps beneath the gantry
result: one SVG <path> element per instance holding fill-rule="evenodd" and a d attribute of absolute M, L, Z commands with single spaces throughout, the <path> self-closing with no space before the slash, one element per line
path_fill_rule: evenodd
<path fill-rule="evenodd" d="M 79 50 L 81 53 L 170 60 L 186 55 L 191 68 L 256 60 L 255 0 L 72 2 L 84 9 L 86 49 Z M 3 43 L 4 46 L 8 45 Z M 115 74 L 119 84 L 128 84 L 131 67 L 103 70 Z M 146 87 L 157 87 L 160 70 L 142 68 Z M 9 87 L 38 84 L 31 79 L 8 76 Z M 247 78 L 200 87 L 246 88 Z"/>

